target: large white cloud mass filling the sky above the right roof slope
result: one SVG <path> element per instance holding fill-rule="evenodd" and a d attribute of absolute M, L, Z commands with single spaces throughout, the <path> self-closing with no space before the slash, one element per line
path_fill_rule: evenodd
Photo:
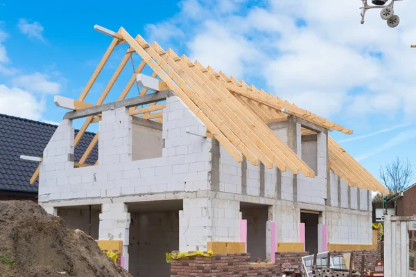
<path fill-rule="evenodd" d="M 395 5 L 397 28 L 389 28 L 378 10 L 369 10 L 361 25 L 360 6 L 333 0 L 270 0 L 257 7 L 186 0 L 163 24 L 186 34 L 191 58 L 253 78 L 266 84 L 254 83 L 257 87 L 320 116 L 394 117 L 401 110 L 410 116 L 416 111 L 416 52 L 409 47 L 415 44 L 416 1 Z"/>

